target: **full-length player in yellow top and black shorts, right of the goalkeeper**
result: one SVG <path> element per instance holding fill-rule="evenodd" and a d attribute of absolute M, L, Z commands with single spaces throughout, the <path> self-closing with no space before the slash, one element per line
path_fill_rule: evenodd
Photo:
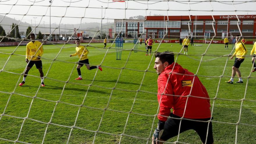
<path fill-rule="evenodd" d="M 230 57 L 230 59 L 233 59 L 234 56 L 236 56 L 235 63 L 232 67 L 232 75 L 229 81 L 225 81 L 226 83 L 232 84 L 234 81 L 234 77 L 237 74 L 237 77 L 239 78 L 239 81 L 236 83 L 243 83 L 243 79 L 241 78 L 241 72 L 239 71 L 239 67 L 241 63 L 243 63 L 245 55 L 247 54 L 246 47 L 243 42 L 240 40 L 240 35 L 237 35 L 236 37 L 236 44 L 235 44 L 235 52 L 234 54 Z"/>

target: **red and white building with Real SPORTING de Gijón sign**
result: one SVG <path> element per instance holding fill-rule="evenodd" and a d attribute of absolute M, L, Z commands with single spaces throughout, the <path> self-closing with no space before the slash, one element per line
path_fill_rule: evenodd
<path fill-rule="evenodd" d="M 143 30 L 147 37 L 152 35 L 153 38 L 163 38 L 166 33 L 165 38 L 179 38 L 190 33 L 194 38 L 211 38 L 214 31 L 216 38 L 224 38 L 240 35 L 238 26 L 245 38 L 255 38 L 256 15 L 146 16 L 145 19 L 114 20 L 114 32 L 121 31 L 125 38 L 139 37 Z"/>

